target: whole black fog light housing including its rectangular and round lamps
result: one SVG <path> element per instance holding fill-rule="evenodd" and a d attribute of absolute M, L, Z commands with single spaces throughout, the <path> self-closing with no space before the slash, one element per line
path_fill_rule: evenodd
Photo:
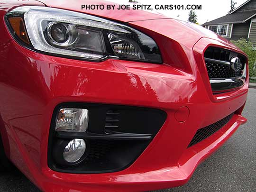
<path fill-rule="evenodd" d="M 73 174 L 123 170 L 146 149 L 166 116 L 151 108 L 62 103 L 53 112 L 48 166 Z"/>

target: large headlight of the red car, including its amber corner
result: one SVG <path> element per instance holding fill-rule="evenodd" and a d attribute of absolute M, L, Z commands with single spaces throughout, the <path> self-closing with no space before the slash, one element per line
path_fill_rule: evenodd
<path fill-rule="evenodd" d="M 6 21 L 18 42 L 43 53 L 162 63 L 151 37 L 110 20 L 63 9 L 19 7 L 6 15 Z"/>

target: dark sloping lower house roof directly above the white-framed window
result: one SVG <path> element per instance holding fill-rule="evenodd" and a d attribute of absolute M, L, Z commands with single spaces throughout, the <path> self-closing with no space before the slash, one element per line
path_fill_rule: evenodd
<path fill-rule="evenodd" d="M 225 15 L 221 18 L 206 22 L 202 26 L 206 25 L 217 25 L 217 24 L 228 24 L 228 23 L 244 23 L 248 19 L 256 15 L 256 10 L 245 11 L 245 12 L 234 12 L 229 15 Z"/>

